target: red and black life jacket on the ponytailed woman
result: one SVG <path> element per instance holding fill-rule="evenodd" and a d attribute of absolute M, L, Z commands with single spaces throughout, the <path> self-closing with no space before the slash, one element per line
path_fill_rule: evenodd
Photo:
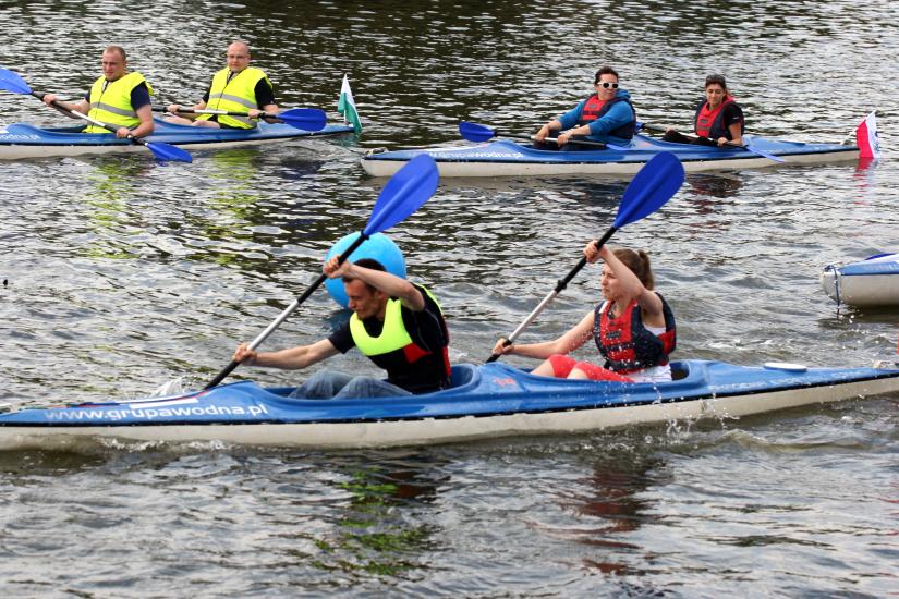
<path fill-rule="evenodd" d="M 640 304 L 636 300 L 613 318 L 609 310 L 611 302 L 603 302 L 594 310 L 593 340 L 596 349 L 606 358 L 604 365 L 609 370 L 628 374 L 668 364 L 668 354 L 677 346 L 675 313 L 661 300 L 661 313 L 665 316 L 665 332 L 655 335 L 643 326 Z"/>

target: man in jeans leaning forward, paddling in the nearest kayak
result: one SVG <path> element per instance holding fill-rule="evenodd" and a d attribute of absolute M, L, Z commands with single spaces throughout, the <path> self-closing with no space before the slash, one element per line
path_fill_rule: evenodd
<path fill-rule="evenodd" d="M 319 370 L 291 393 L 294 398 L 384 398 L 449 387 L 449 331 L 430 292 L 387 272 L 372 258 L 338 266 L 333 257 L 325 265 L 325 273 L 331 279 L 343 278 L 353 310 L 349 322 L 312 345 L 279 352 L 257 353 L 242 343 L 234 360 L 297 369 L 356 346 L 387 370 L 387 380 Z"/>

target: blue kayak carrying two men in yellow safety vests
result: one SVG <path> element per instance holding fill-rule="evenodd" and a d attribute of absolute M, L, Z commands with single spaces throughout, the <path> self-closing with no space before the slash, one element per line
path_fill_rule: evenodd
<path fill-rule="evenodd" d="M 352 125 L 326 125 L 320 131 L 304 131 L 284 123 L 260 122 L 253 129 L 207 129 L 175 125 L 155 119 L 156 130 L 146 137 L 186 149 L 217 149 L 234 146 L 271 144 L 299 137 L 318 137 L 352 133 Z M 84 126 L 40 129 L 28 123 L 13 123 L 0 129 L 0 160 L 80 156 L 84 154 L 131 152 L 147 149 L 119 139 L 111 133 L 81 133 Z"/>

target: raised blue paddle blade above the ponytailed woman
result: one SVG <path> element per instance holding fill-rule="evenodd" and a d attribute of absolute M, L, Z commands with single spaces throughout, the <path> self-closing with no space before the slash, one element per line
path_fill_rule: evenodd
<path fill-rule="evenodd" d="M 618 206 L 618 216 L 615 227 L 620 229 L 625 224 L 640 220 L 658 210 L 680 186 L 683 185 L 683 164 L 668 151 L 657 154 L 634 175 L 621 204 Z"/>

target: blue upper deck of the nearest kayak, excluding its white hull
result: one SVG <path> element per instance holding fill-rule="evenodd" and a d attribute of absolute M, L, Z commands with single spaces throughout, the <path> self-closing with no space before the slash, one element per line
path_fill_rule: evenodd
<path fill-rule="evenodd" d="M 23 409 L 0 416 L 3 426 L 135 426 L 184 424 L 380 423 L 425 418 L 491 417 L 582 409 L 617 408 L 764 396 L 840 383 L 897 379 L 899 370 L 875 368 L 744 367 L 720 362 L 671 364 L 676 380 L 622 383 L 537 377 L 495 363 L 453 367 L 454 387 L 398 398 L 301 400 L 292 389 L 264 389 L 244 381 L 208 391 L 48 409 Z"/>

